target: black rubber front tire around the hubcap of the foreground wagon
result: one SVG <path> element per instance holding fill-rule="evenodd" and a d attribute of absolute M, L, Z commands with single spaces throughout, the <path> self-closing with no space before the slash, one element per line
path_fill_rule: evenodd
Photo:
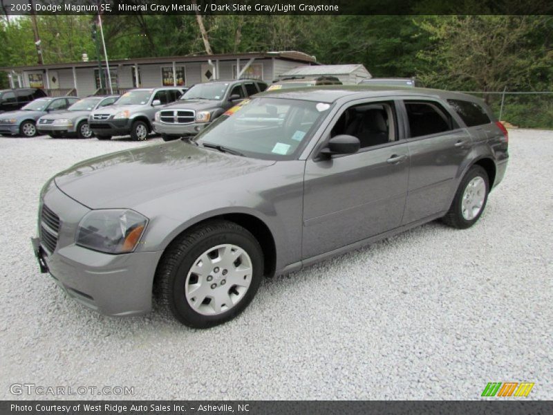
<path fill-rule="evenodd" d="M 247 252 L 252 261 L 252 281 L 243 298 L 228 311 L 203 315 L 194 311 L 185 297 L 187 274 L 203 252 L 223 243 L 232 243 Z M 211 221 L 182 234 L 167 248 L 156 272 L 156 294 L 182 324 L 207 329 L 232 320 L 241 313 L 252 301 L 262 277 L 263 251 L 255 237 L 236 223 Z"/>

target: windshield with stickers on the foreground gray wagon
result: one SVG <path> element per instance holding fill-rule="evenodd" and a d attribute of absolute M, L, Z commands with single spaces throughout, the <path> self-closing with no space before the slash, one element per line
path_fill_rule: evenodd
<path fill-rule="evenodd" d="M 253 158 L 293 160 L 328 109 L 326 102 L 264 97 L 246 100 L 198 134 L 196 142 Z"/>

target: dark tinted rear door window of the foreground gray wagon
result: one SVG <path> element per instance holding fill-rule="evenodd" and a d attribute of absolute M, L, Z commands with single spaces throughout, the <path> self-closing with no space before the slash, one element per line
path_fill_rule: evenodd
<path fill-rule="evenodd" d="M 449 131 L 454 125 L 449 113 L 440 104 L 428 101 L 404 101 L 411 137 Z"/>

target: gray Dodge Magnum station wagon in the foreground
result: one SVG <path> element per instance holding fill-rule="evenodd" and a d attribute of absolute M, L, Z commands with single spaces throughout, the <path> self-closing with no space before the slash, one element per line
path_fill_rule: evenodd
<path fill-rule="evenodd" d="M 507 166 L 507 131 L 469 95 L 327 86 L 256 95 L 193 139 L 124 150 L 50 179 L 41 271 L 108 315 L 232 319 L 263 275 L 434 219 L 469 228 Z"/>

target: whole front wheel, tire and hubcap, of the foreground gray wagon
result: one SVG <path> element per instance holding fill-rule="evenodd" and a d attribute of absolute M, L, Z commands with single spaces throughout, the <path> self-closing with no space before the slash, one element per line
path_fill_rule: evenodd
<path fill-rule="evenodd" d="M 236 317 L 263 277 L 263 251 L 236 223 L 196 227 L 168 248 L 156 279 L 162 302 L 177 320 L 206 329 Z"/>

